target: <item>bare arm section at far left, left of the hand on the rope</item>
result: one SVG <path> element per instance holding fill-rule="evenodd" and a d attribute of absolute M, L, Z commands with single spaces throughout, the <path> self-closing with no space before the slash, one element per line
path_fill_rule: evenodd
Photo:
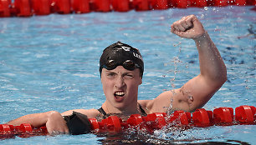
<path fill-rule="evenodd" d="M 28 114 L 23 117 L 18 117 L 17 119 L 14 119 L 7 123 L 14 126 L 18 126 L 22 123 L 29 123 L 33 127 L 38 128 L 46 124 L 46 122 L 49 120 L 49 117 L 52 113 L 54 113 L 54 111 Z"/>

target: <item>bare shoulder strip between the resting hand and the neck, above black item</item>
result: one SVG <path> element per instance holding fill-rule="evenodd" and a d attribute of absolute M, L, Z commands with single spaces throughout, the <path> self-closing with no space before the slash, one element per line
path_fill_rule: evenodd
<path fill-rule="evenodd" d="M 72 112 L 80 112 L 84 115 L 86 115 L 89 118 L 95 118 L 97 117 L 100 112 L 97 109 L 74 109 L 74 110 L 69 110 L 66 112 L 61 113 L 61 115 L 65 116 L 65 115 L 71 115 Z"/>

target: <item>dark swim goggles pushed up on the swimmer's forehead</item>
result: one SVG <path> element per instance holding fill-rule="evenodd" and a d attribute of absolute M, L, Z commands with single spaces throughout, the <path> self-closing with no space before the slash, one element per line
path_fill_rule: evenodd
<path fill-rule="evenodd" d="M 132 60 L 126 60 L 125 62 L 115 62 L 115 60 L 109 60 L 101 66 L 101 69 L 105 68 L 107 70 L 112 70 L 115 69 L 115 67 L 117 66 L 123 66 L 125 69 L 129 71 L 133 71 L 135 68 L 141 68 L 140 65 L 136 64 Z"/>

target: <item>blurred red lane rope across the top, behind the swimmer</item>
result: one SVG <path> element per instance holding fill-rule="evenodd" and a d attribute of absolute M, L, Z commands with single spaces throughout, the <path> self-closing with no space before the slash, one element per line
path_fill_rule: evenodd
<path fill-rule="evenodd" d="M 253 0 L 0 0 L 1 17 L 31 17 L 50 13 L 128 12 L 187 7 L 256 5 Z"/>

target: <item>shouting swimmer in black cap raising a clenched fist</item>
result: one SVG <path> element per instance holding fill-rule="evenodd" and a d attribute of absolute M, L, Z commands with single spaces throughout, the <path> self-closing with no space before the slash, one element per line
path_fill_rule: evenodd
<path fill-rule="evenodd" d="M 8 124 L 29 123 L 35 128 L 46 126 L 50 134 L 89 133 L 88 118 L 102 119 L 109 115 L 130 116 L 172 110 L 193 112 L 203 107 L 227 80 L 223 59 L 207 31 L 196 16 L 190 15 L 171 26 L 179 37 L 194 40 L 200 62 L 200 74 L 181 88 L 162 92 L 152 100 L 138 100 L 138 87 L 142 83 L 144 62 L 138 49 L 122 42 L 106 47 L 100 57 L 100 78 L 105 102 L 100 109 L 74 109 L 66 112 L 41 112 L 18 117 Z M 168 50 L 166 50 L 168 51 Z M 171 50 L 169 50 L 171 51 Z M 81 123 L 81 125 L 79 125 Z M 85 126 L 83 125 L 85 124 Z"/>

